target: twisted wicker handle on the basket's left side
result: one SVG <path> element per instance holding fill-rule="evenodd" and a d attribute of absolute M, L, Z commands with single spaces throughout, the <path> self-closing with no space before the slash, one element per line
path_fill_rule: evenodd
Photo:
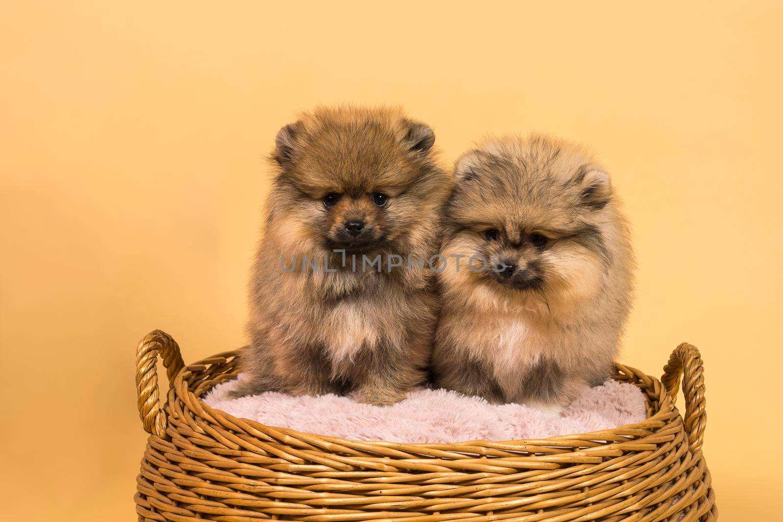
<path fill-rule="evenodd" d="M 161 412 L 161 402 L 158 400 L 158 352 L 163 355 L 169 387 L 185 362 L 179 354 L 177 341 L 161 330 L 148 333 L 136 347 L 136 405 L 139 406 L 139 416 L 148 434 L 163 437 L 166 433 L 166 414 Z"/>

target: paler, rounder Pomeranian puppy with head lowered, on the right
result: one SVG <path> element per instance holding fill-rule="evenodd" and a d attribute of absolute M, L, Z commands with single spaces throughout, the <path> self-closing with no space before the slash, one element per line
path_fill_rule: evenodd
<path fill-rule="evenodd" d="M 608 378 L 630 311 L 630 233 L 609 176 L 578 146 L 533 136 L 490 139 L 454 178 L 434 383 L 557 412 Z"/>

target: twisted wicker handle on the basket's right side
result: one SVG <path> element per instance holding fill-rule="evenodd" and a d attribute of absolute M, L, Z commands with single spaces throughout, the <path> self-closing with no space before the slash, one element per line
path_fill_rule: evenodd
<path fill-rule="evenodd" d="M 663 367 L 661 382 L 666 385 L 673 401 L 677 399 L 677 391 L 680 389 L 680 375 L 683 376 L 685 395 L 685 431 L 691 451 L 698 452 L 704 442 L 707 412 L 704 398 L 704 362 L 693 344 L 680 344 Z"/>

